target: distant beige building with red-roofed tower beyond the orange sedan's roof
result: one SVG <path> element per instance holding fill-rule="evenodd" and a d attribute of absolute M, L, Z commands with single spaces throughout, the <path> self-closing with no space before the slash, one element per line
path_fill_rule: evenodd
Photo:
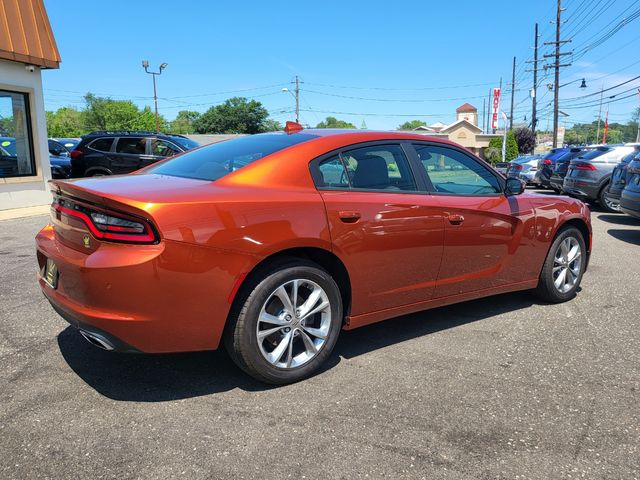
<path fill-rule="evenodd" d="M 478 109 L 470 103 L 465 103 L 456 109 L 456 121 L 450 125 L 436 122 L 413 129 L 414 133 L 436 138 L 445 138 L 455 142 L 476 155 L 484 158 L 484 149 L 489 146 L 492 138 L 501 135 L 484 133 L 478 127 Z"/>

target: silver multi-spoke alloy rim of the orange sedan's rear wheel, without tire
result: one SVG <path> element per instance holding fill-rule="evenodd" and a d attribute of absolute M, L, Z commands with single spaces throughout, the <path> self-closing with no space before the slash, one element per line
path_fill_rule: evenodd
<path fill-rule="evenodd" d="M 296 368 L 313 359 L 329 336 L 331 303 L 317 283 L 290 280 L 276 288 L 260 310 L 256 337 L 273 366 Z"/>

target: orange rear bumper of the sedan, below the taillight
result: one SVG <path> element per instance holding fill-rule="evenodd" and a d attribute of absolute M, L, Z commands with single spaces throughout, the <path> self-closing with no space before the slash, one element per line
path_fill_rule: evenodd
<path fill-rule="evenodd" d="M 36 247 L 38 282 L 53 308 L 122 351 L 215 350 L 243 278 L 233 272 L 250 268 L 244 255 L 172 241 L 80 252 L 52 226 L 37 235 Z M 47 259 L 58 268 L 56 288 L 43 277 Z"/>

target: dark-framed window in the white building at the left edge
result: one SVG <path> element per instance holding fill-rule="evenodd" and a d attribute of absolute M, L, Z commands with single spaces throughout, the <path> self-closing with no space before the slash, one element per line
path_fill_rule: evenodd
<path fill-rule="evenodd" d="M 36 174 L 26 93 L 0 90 L 0 178 Z"/>

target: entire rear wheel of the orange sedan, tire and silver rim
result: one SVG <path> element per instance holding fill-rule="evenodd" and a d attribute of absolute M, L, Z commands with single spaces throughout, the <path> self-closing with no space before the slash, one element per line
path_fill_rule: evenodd
<path fill-rule="evenodd" d="M 317 265 L 302 261 L 257 274 L 250 282 L 225 334 L 234 362 L 272 384 L 315 373 L 331 354 L 342 326 L 336 282 Z"/>

